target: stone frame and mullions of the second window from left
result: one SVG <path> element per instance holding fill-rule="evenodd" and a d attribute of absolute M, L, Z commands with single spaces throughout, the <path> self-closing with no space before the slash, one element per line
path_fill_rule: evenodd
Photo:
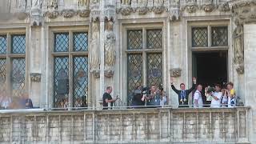
<path fill-rule="evenodd" d="M 69 38 L 69 46 L 68 46 L 68 51 L 67 52 L 56 52 L 55 50 L 55 37 L 54 34 L 62 34 L 62 33 L 67 33 L 68 38 Z M 75 51 L 74 50 L 74 34 L 76 33 L 86 33 L 87 34 L 87 50 L 86 51 Z M 68 58 L 68 73 L 69 73 L 69 102 L 68 102 L 68 107 L 75 107 L 74 106 L 74 58 L 77 56 L 83 56 L 88 58 L 88 96 L 86 97 L 87 100 L 87 106 L 90 106 L 90 31 L 89 31 L 89 26 L 70 26 L 70 27 L 53 27 L 50 28 L 50 67 L 51 67 L 51 73 L 52 75 L 50 76 L 50 107 L 53 108 L 58 108 L 55 106 L 54 103 L 54 58 L 56 57 L 67 57 Z M 77 107 L 79 108 L 79 107 Z"/>

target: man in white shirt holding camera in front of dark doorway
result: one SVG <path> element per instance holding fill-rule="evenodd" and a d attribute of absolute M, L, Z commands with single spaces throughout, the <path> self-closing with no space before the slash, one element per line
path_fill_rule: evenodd
<path fill-rule="evenodd" d="M 221 92 L 221 86 L 219 84 L 215 85 L 215 92 L 212 92 L 210 95 L 213 97 L 210 103 L 210 107 L 220 107 L 222 92 Z"/>

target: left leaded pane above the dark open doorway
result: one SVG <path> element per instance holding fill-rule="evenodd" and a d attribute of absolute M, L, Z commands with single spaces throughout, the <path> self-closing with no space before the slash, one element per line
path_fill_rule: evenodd
<path fill-rule="evenodd" d="M 192 47 L 208 46 L 207 37 L 208 37 L 207 27 L 192 28 Z"/>

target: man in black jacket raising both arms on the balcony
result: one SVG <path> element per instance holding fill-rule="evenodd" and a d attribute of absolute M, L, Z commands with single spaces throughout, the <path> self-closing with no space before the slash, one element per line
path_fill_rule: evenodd
<path fill-rule="evenodd" d="M 170 78 L 171 88 L 174 90 L 176 94 L 178 94 L 178 107 L 189 107 L 188 105 L 189 94 L 192 92 L 192 90 L 194 90 L 197 83 L 197 79 L 193 78 L 193 86 L 189 90 L 185 89 L 184 83 L 180 84 L 181 90 L 177 90 L 173 82 L 174 82 L 174 78 L 171 77 Z"/>

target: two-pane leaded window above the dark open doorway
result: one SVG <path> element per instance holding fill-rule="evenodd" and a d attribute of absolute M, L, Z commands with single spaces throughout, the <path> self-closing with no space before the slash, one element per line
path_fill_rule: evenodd
<path fill-rule="evenodd" d="M 220 47 L 228 46 L 227 26 L 192 27 L 192 47 Z"/>

